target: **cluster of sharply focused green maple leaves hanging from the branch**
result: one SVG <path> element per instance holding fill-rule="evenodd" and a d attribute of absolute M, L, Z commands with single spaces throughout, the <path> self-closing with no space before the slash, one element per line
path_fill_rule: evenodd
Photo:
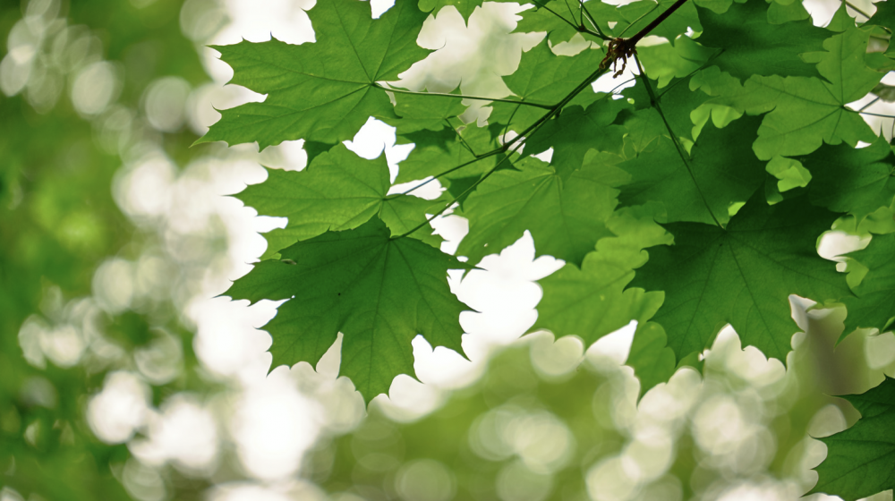
<path fill-rule="evenodd" d="M 627 363 L 642 393 L 728 324 L 785 362 L 798 330 L 791 294 L 844 303 L 846 335 L 890 326 L 895 228 L 871 223 L 891 221 L 895 156 L 849 106 L 895 67 L 889 53 L 868 52 L 871 37 L 895 28 L 888 7 L 859 23 L 843 4 L 818 28 L 799 2 L 538 1 L 516 30 L 548 35 L 504 78 L 510 96 L 400 87 L 400 74 L 430 54 L 415 43 L 427 16 L 453 7 L 468 19 L 481 4 L 397 0 L 372 19 L 369 4 L 331 0 L 309 12 L 314 43 L 216 47 L 233 83 L 267 98 L 223 110 L 200 141 L 313 146 L 302 172 L 270 170 L 238 195 L 288 218 L 268 234 L 267 259 L 227 292 L 286 300 L 265 327 L 275 366 L 318 361 L 341 332 L 340 373 L 369 400 L 396 375 L 413 375 L 413 336 L 462 352 L 465 306 L 447 270 L 470 269 L 525 231 L 538 255 L 566 261 L 541 280 L 533 329 L 590 344 L 637 320 Z M 645 35 L 667 43 L 633 47 Z M 591 43 L 554 52 L 573 37 Z M 635 48 L 625 62 L 635 84 L 593 92 L 623 63 L 609 50 L 618 39 Z M 466 123 L 482 100 L 490 115 Z M 384 159 L 339 144 L 369 117 L 415 145 L 397 181 L 437 180 L 439 200 L 391 193 Z M 430 232 L 446 211 L 469 221 L 463 260 L 441 252 Z M 816 251 L 842 221 L 878 234 L 848 257 L 869 270 L 859 284 Z M 857 473 L 819 471 L 818 488 L 832 494 L 892 487 L 850 490 Z"/>

